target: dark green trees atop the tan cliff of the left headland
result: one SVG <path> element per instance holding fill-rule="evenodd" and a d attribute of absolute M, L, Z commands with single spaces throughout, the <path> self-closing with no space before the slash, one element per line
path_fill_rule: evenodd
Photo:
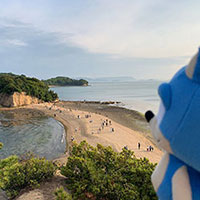
<path fill-rule="evenodd" d="M 42 101 L 55 101 L 58 95 L 49 90 L 48 85 L 36 78 L 12 73 L 0 73 L 0 93 L 12 95 L 14 92 L 25 92 Z"/>

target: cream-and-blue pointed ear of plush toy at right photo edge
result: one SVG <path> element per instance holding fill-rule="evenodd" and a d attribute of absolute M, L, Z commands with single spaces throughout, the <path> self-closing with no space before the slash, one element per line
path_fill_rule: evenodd
<path fill-rule="evenodd" d="M 200 49 L 185 69 L 188 78 L 200 83 Z"/>

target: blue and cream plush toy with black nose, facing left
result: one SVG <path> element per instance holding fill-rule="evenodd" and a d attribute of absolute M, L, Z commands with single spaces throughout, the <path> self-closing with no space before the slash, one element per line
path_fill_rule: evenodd
<path fill-rule="evenodd" d="M 152 175 L 154 188 L 160 200 L 200 200 L 200 50 L 158 93 L 158 114 L 145 114 L 166 152 Z"/>

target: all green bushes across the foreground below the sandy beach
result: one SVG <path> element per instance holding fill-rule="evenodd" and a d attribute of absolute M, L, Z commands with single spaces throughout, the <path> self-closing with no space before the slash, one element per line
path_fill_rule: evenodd
<path fill-rule="evenodd" d="M 52 192 L 57 200 L 157 200 L 151 183 L 155 166 L 125 148 L 117 153 L 100 144 L 74 142 L 66 165 L 60 167 L 71 194 L 63 187 Z M 51 161 L 31 154 L 0 159 L 0 189 L 13 198 L 52 178 L 57 169 Z"/>

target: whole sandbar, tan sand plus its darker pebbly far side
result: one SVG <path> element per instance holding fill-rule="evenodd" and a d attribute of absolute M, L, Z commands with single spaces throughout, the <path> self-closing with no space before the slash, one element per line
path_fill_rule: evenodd
<path fill-rule="evenodd" d="M 105 102 L 86 101 L 60 101 L 56 103 L 32 104 L 18 108 L 0 108 L 0 110 L 14 110 L 28 108 L 42 111 L 45 115 L 62 123 L 65 130 L 66 152 L 53 161 L 64 164 L 67 161 L 72 137 L 77 143 L 86 140 L 90 145 L 100 143 L 111 146 L 115 151 L 121 151 L 128 146 L 135 152 L 136 157 L 147 157 L 151 162 L 158 162 L 162 152 L 152 142 L 152 137 L 146 131 L 148 124 L 141 113 L 126 108 L 110 106 Z M 92 115 L 91 119 L 84 116 Z M 80 119 L 77 118 L 80 116 Z M 98 132 L 102 120 L 111 120 L 116 133 L 112 133 L 110 127 Z M 90 123 L 90 121 L 93 121 Z M 77 132 L 75 131 L 77 129 Z M 136 148 L 137 142 L 141 142 L 142 150 Z M 153 152 L 147 152 L 148 145 L 154 146 Z"/>

